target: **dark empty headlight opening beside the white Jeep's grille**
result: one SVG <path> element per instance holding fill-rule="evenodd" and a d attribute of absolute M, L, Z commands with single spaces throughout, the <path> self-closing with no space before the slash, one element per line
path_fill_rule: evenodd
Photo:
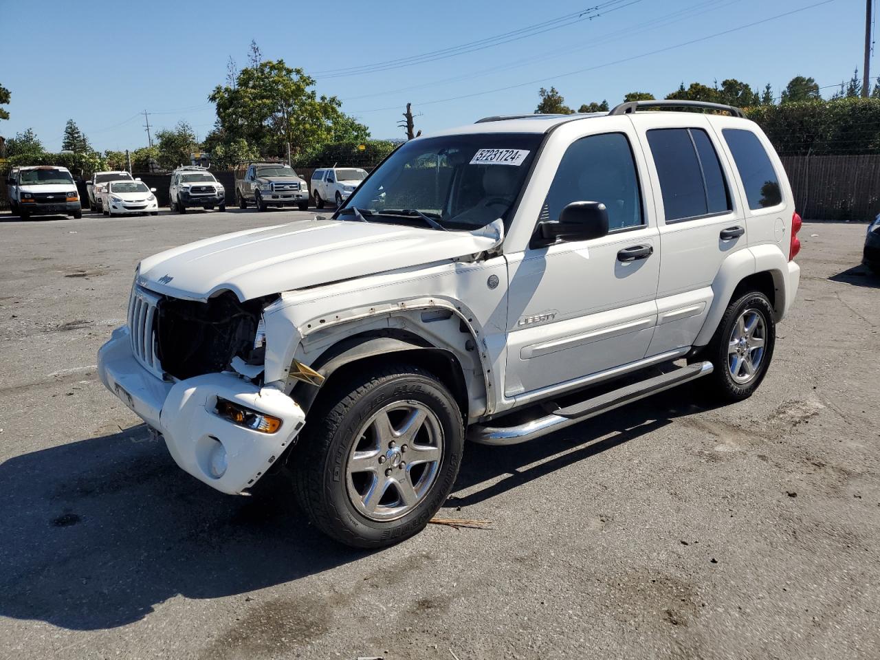
<path fill-rule="evenodd" d="M 206 373 L 229 370 L 238 356 L 247 364 L 262 365 L 265 341 L 257 344 L 263 308 L 276 296 L 244 303 L 231 291 L 207 303 L 164 297 L 156 321 L 158 357 L 162 369 L 186 380 Z M 263 324 L 265 337 L 265 324 Z"/>

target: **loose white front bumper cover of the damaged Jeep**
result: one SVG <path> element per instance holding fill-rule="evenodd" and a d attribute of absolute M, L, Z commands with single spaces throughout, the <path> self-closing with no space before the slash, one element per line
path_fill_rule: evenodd
<path fill-rule="evenodd" d="M 296 440 L 305 415 L 289 396 L 252 385 L 235 374 L 212 373 L 176 383 L 159 380 L 137 362 L 128 327 L 114 330 L 98 352 L 98 374 L 106 388 L 165 437 L 172 458 L 211 488 L 234 495 L 250 488 Z M 268 434 L 233 424 L 214 413 L 223 398 L 282 420 Z M 224 451 L 225 472 L 211 472 L 211 458 Z"/>

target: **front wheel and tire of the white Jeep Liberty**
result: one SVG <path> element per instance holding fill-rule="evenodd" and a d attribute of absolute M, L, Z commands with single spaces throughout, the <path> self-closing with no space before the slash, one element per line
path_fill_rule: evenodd
<path fill-rule="evenodd" d="M 381 425 L 372 424 L 384 419 L 400 431 L 416 411 L 424 418 L 410 440 L 378 434 Z M 297 501 L 312 524 L 341 543 L 365 548 L 421 532 L 451 492 L 465 442 L 461 411 L 443 383 L 414 365 L 392 363 L 332 387 L 310 415 L 316 422 L 306 424 L 289 465 Z M 349 473 L 355 451 L 364 469 Z M 438 458 L 407 461 L 414 456 Z M 409 504 L 405 490 L 414 498 Z M 377 495 L 370 508 L 371 492 Z"/>

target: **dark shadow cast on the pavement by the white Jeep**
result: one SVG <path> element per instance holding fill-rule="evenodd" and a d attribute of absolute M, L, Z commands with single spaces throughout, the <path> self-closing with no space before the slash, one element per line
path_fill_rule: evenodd
<path fill-rule="evenodd" d="M 455 493 L 491 485 L 446 506 L 502 495 L 703 409 L 681 400 L 679 388 L 532 443 L 470 444 Z M 143 425 L 11 458 L 0 483 L 0 616 L 15 619 L 119 627 L 179 594 L 242 594 L 368 554 L 313 529 L 282 480 L 232 497 L 182 473 Z"/>

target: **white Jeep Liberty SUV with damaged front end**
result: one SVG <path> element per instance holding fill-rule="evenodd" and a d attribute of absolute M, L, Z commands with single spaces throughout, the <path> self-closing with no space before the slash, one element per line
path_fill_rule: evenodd
<path fill-rule="evenodd" d="M 638 112 L 678 106 L 730 116 Z M 320 530 L 384 546 L 443 505 L 466 438 L 533 440 L 696 378 L 752 395 L 799 227 L 737 108 L 487 118 L 405 143 L 332 217 L 144 259 L 99 374 L 195 478 L 292 474 Z"/>

